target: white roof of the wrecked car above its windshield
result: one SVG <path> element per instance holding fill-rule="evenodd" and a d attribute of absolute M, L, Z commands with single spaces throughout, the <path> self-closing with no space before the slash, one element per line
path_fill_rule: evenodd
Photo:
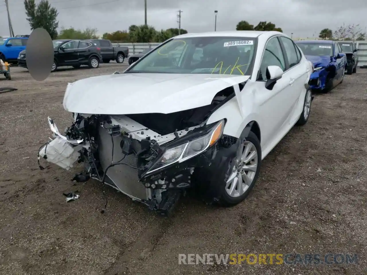
<path fill-rule="evenodd" d="M 262 36 L 264 38 L 268 38 L 270 36 L 273 36 L 275 34 L 283 34 L 281 32 L 261 32 L 257 30 L 231 30 L 231 31 L 222 31 L 222 32 L 203 32 L 203 33 L 185 33 L 181 34 L 179 36 L 175 36 L 174 38 L 188 38 L 188 37 L 222 37 L 222 36 L 228 36 L 228 37 L 259 37 Z M 284 35 L 284 34 L 283 34 Z"/>

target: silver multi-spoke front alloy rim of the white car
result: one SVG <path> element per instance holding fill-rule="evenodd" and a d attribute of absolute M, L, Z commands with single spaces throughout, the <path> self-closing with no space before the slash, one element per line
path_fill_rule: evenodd
<path fill-rule="evenodd" d="M 232 172 L 226 182 L 226 192 L 230 197 L 243 195 L 254 181 L 258 167 L 258 152 L 249 141 L 242 144 L 242 155 L 236 160 Z"/>

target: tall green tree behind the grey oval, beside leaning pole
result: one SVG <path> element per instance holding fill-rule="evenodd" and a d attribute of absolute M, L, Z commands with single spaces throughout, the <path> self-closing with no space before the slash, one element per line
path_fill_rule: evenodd
<path fill-rule="evenodd" d="M 47 30 L 52 39 L 57 37 L 58 12 L 54 7 L 51 7 L 48 0 L 41 0 L 37 6 L 34 0 L 24 0 L 24 7 L 31 30 L 41 27 Z"/>

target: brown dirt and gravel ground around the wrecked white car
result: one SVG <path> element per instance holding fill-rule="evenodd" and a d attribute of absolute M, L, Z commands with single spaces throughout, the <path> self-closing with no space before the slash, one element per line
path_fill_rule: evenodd
<path fill-rule="evenodd" d="M 73 186 L 78 170 L 41 171 L 37 151 L 62 130 L 66 84 L 122 70 L 63 70 L 46 81 L 14 67 L 0 76 L 0 274 L 367 274 L 367 70 L 316 95 L 308 124 L 265 158 L 246 201 L 224 209 L 182 199 L 161 218 L 96 181 Z M 123 89 L 123 86 L 121 86 Z M 101 91 L 102 92 L 102 91 Z M 80 192 L 65 202 L 63 192 Z M 356 253 L 353 265 L 178 265 L 178 253 Z"/>

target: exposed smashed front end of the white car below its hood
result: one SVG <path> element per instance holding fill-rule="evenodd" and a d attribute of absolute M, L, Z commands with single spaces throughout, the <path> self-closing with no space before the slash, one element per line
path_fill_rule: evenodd
<path fill-rule="evenodd" d="M 171 114 L 73 113 L 75 122 L 65 135 L 48 118 L 54 139 L 40 148 L 38 159 L 66 170 L 83 162 L 84 170 L 73 180 L 97 179 L 102 190 L 107 184 L 167 215 L 193 186 L 194 170 L 210 165 L 219 147 L 235 142 L 223 135 L 225 118 L 206 124 L 234 96 L 231 86 L 218 92 L 210 105 Z"/>

